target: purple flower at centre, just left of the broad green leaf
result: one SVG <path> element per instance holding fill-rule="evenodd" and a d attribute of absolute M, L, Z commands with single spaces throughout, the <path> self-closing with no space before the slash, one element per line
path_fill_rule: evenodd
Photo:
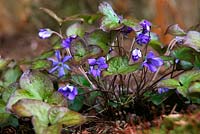
<path fill-rule="evenodd" d="M 89 73 L 94 77 L 100 76 L 102 69 L 108 68 L 108 64 L 106 64 L 104 57 L 100 57 L 98 59 L 88 59 L 88 63 L 90 65 Z"/>

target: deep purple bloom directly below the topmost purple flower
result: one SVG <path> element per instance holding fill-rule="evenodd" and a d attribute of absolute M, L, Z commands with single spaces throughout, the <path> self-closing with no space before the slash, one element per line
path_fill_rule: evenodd
<path fill-rule="evenodd" d="M 137 35 L 135 41 L 137 42 L 137 44 L 142 45 L 142 44 L 148 44 L 150 39 L 151 37 L 149 35 L 140 33 L 139 35 Z"/>

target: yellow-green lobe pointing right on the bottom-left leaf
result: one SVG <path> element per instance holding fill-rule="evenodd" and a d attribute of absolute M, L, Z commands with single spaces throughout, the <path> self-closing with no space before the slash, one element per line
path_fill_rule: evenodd
<path fill-rule="evenodd" d="M 74 126 L 81 125 L 86 121 L 86 118 L 65 107 L 52 107 L 49 110 L 49 121 L 53 125 L 58 123 L 66 126 Z"/>

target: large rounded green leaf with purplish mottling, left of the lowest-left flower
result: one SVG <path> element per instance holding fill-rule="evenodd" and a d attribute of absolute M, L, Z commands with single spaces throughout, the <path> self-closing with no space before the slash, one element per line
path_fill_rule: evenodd
<path fill-rule="evenodd" d="M 54 90 L 53 83 L 47 75 L 38 71 L 25 71 L 19 82 L 22 89 L 41 99 L 46 99 Z"/>

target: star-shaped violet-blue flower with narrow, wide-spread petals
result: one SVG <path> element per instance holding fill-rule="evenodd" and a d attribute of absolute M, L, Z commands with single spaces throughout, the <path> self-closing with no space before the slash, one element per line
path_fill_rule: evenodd
<path fill-rule="evenodd" d="M 67 64 L 65 64 L 65 62 L 71 59 L 72 56 L 65 56 L 64 58 L 62 58 L 59 50 L 56 50 L 55 56 L 57 60 L 52 59 L 52 58 L 48 59 L 52 62 L 52 66 L 53 66 L 53 68 L 49 70 L 49 73 L 53 73 L 56 70 L 58 70 L 58 76 L 62 77 L 65 75 L 65 69 L 70 70 L 70 67 Z"/>

